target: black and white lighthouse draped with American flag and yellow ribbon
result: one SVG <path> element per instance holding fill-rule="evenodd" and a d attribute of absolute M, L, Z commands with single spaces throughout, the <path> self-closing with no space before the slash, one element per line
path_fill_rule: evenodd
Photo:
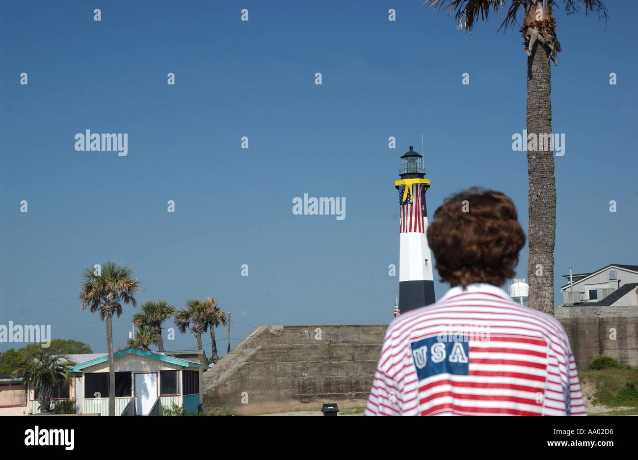
<path fill-rule="evenodd" d="M 427 244 L 426 179 L 423 156 L 410 150 L 401 157 L 399 190 L 399 308 L 402 313 L 434 303 L 432 255 Z"/>

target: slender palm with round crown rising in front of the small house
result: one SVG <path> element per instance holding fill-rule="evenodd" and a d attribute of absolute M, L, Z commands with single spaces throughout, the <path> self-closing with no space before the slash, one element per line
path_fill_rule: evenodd
<path fill-rule="evenodd" d="M 133 269 L 115 262 L 105 262 L 101 274 L 87 268 L 80 284 L 80 307 L 89 307 L 91 313 L 100 312 L 100 320 L 107 322 L 108 346 L 108 415 L 115 415 L 115 363 L 113 360 L 113 327 L 114 314 L 122 315 L 122 302 L 137 306 L 133 294 L 140 288 L 140 282 L 133 277 Z"/>

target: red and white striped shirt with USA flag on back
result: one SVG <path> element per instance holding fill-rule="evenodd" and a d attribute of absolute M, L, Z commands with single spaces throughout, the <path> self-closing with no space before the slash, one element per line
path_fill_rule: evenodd
<path fill-rule="evenodd" d="M 450 289 L 390 323 L 365 415 L 585 415 L 558 320 L 501 288 Z"/>

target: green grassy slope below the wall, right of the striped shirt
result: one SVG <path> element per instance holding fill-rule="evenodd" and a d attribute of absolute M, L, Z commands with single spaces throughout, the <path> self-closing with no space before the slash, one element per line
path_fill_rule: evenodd
<path fill-rule="evenodd" d="M 595 392 L 591 399 L 594 405 L 627 406 L 638 410 L 638 367 L 609 367 L 579 374 L 581 382 L 594 384 Z"/>

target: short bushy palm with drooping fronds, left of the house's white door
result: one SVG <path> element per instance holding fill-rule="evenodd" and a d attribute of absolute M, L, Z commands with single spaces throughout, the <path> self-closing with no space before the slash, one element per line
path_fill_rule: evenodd
<path fill-rule="evenodd" d="M 73 380 L 73 366 L 75 362 L 67 355 L 57 355 L 51 348 L 31 348 L 24 353 L 11 377 L 22 378 L 25 383 L 31 380 L 33 389 L 38 390 L 40 413 L 48 413 L 56 385 L 70 385 Z"/>

